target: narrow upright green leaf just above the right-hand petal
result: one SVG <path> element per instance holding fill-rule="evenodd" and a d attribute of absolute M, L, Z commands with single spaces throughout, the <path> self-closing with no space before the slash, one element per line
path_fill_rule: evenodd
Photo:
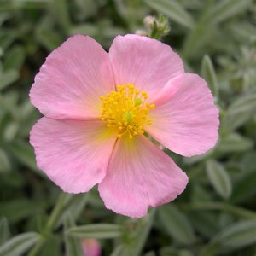
<path fill-rule="evenodd" d="M 205 55 L 201 63 L 201 75 L 207 80 L 212 95 L 218 97 L 218 82 L 212 61 L 208 55 Z"/>

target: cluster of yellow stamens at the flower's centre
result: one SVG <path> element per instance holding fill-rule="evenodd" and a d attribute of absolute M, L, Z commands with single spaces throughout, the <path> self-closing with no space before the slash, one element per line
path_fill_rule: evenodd
<path fill-rule="evenodd" d="M 101 96 L 102 115 L 101 120 L 107 123 L 107 127 L 116 129 L 118 137 L 133 138 L 138 133 L 144 133 L 144 126 L 150 125 L 149 110 L 154 104 L 146 102 L 148 95 L 140 92 L 134 85 L 117 85 L 107 96 Z"/>

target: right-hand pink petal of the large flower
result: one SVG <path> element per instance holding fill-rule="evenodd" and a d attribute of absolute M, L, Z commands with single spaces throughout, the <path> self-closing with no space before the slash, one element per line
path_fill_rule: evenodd
<path fill-rule="evenodd" d="M 218 141 L 218 108 L 204 79 L 184 73 L 166 84 L 148 133 L 177 154 L 203 154 Z"/>

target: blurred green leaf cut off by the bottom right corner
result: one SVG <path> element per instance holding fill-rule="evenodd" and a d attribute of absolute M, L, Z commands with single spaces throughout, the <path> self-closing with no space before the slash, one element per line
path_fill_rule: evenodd
<path fill-rule="evenodd" d="M 212 244 L 220 245 L 221 251 L 231 252 L 256 243 L 256 221 L 243 220 L 225 227 L 212 238 Z"/>

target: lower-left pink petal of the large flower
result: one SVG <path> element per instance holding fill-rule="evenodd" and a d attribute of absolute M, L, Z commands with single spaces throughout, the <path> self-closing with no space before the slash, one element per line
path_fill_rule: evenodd
<path fill-rule="evenodd" d="M 102 122 L 49 118 L 38 120 L 30 137 L 38 168 L 69 193 L 86 192 L 102 181 L 115 140 Z"/>

